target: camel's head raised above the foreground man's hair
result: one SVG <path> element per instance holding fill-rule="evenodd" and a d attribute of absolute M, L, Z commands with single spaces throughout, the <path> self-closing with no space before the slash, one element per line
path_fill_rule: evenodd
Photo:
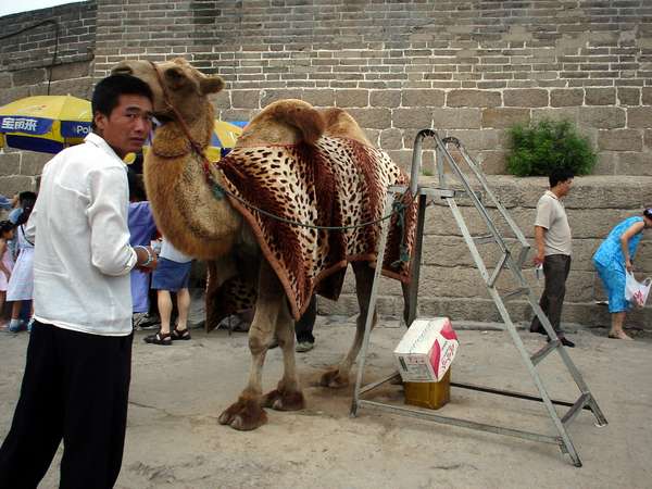
<path fill-rule="evenodd" d="M 154 67 L 155 66 L 155 67 Z M 159 75 L 155 70 L 159 71 Z M 180 113 L 186 123 L 203 115 L 210 93 L 224 88 L 220 76 L 206 76 L 192 67 L 183 58 L 152 64 L 149 61 L 122 61 L 111 70 L 112 75 L 133 75 L 147 83 L 154 95 L 154 114 L 160 120 L 175 118 L 174 112 L 165 101 L 165 85 L 168 100 Z"/>

